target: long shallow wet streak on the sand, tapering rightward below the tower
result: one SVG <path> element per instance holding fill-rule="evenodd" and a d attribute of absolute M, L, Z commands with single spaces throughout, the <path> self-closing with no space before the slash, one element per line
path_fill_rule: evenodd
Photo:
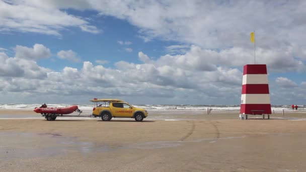
<path fill-rule="evenodd" d="M 222 139 L 243 137 L 225 137 L 199 139 L 192 141 L 155 141 L 133 144 L 105 144 L 80 141 L 79 137 L 66 137 L 61 133 L 22 133 L 0 132 L 0 161 L 10 158 L 50 157 L 65 153 L 99 153 L 118 149 L 159 149 L 177 147 L 191 142 L 214 143 Z"/>

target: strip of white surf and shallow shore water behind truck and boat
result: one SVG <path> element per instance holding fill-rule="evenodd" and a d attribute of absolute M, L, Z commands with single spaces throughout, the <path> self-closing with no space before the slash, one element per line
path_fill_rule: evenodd
<path fill-rule="evenodd" d="M 0 104 L 0 110 L 33 110 L 35 107 L 40 107 L 40 104 Z M 70 104 L 48 104 L 48 107 L 69 107 Z M 83 111 L 80 117 L 59 117 L 58 120 L 101 120 L 99 118 L 91 118 L 94 105 L 78 105 L 79 109 Z M 148 117 L 145 121 L 149 120 L 166 120 L 166 121 L 179 121 L 179 120 L 205 120 L 207 119 L 207 109 L 212 109 L 211 114 L 221 114 L 221 118 L 228 119 L 226 115 L 228 112 L 237 114 L 238 119 L 240 113 L 240 105 L 133 105 L 137 108 L 143 108 L 148 111 Z M 298 113 L 306 113 L 306 105 L 298 105 Z M 272 111 L 280 113 L 283 110 L 285 113 L 292 112 L 290 105 L 272 105 Z M 223 114 L 223 115 L 222 115 Z M 72 116 L 78 116 L 78 112 L 69 114 Z M 205 117 L 205 118 L 204 118 Z M 0 119 L 43 119 L 40 114 L 29 111 L 28 114 L 14 115 L 0 113 Z M 234 117 L 233 117 L 234 118 Z M 211 118 L 213 119 L 213 116 Z M 113 118 L 112 120 L 133 120 L 131 118 Z"/>

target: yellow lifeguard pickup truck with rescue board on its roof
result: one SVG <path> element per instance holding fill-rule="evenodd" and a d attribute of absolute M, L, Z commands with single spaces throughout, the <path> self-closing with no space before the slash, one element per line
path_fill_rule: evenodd
<path fill-rule="evenodd" d="M 112 118 L 134 118 L 142 121 L 147 117 L 147 111 L 135 108 L 128 103 L 118 99 L 94 99 L 94 117 L 101 117 L 102 121 L 110 121 Z"/>

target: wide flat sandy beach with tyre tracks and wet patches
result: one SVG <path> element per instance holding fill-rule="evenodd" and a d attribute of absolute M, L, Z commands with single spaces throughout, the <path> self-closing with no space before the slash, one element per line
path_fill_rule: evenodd
<path fill-rule="evenodd" d="M 187 113 L 161 119 L 149 112 L 143 122 L 0 119 L 0 171 L 306 169 L 306 114 L 238 120 L 237 112 Z M 27 114 L 0 111 L 0 118 Z"/>

